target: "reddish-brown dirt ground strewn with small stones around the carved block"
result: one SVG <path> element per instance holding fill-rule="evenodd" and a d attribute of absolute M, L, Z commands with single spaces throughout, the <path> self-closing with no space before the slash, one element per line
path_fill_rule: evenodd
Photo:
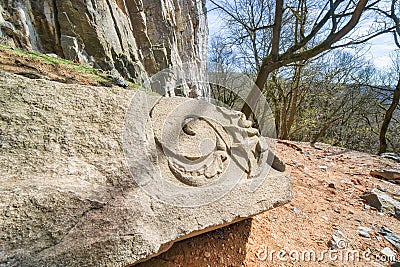
<path fill-rule="evenodd" d="M 110 82 L 99 82 L 99 76 L 104 78 L 104 73 L 89 74 L 68 64 L 47 61 L 0 47 L 0 70 L 3 71 L 65 83 L 104 85 L 104 82 Z M 381 186 L 399 199 L 399 185 L 373 178 L 369 172 L 372 169 L 399 169 L 400 164 L 324 144 L 317 144 L 320 149 L 316 149 L 308 143 L 291 143 L 300 149 L 278 144 L 276 152 L 287 164 L 287 172 L 292 178 L 295 193 L 292 202 L 253 219 L 177 242 L 167 252 L 137 266 L 387 266 L 378 261 L 341 261 L 339 256 L 341 251 L 349 250 L 360 254 L 370 250 L 372 255 L 378 256 L 384 247 L 396 251 L 376 231 L 386 226 L 400 234 L 399 220 L 374 208 L 365 209 L 360 195 Z M 323 171 L 319 166 L 328 169 Z M 361 237 L 357 233 L 358 226 L 371 228 L 371 238 Z M 272 254 L 273 261 L 269 257 L 272 250 L 300 254 L 313 250 L 317 259 L 321 258 L 321 253 L 329 249 L 332 233 L 337 230 L 344 234 L 346 248 L 332 254 L 333 260 L 327 255 L 322 261 L 302 261 L 301 257 L 299 261 L 280 261 L 277 253 Z M 292 256 L 297 257 L 296 254 Z M 339 259 L 334 260 L 335 256 Z M 288 259 L 287 255 L 283 259 Z M 399 253 L 397 259 L 400 260 Z"/>

